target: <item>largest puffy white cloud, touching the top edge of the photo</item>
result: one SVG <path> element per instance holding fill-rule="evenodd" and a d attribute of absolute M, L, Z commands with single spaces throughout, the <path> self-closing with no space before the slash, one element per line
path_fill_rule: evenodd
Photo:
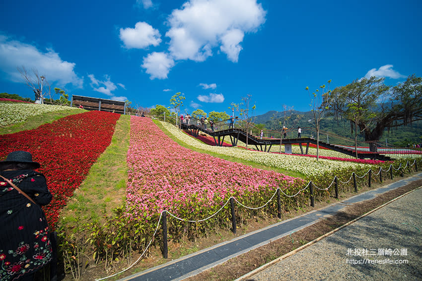
<path fill-rule="evenodd" d="M 175 59 L 204 61 L 212 48 L 229 60 L 238 61 L 246 32 L 255 32 L 265 22 L 266 11 L 256 0 L 190 0 L 169 16 L 169 51 Z"/>

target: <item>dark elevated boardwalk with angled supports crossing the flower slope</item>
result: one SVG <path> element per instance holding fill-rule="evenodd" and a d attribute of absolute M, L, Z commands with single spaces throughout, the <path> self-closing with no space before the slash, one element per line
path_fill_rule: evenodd
<path fill-rule="evenodd" d="M 227 128 L 226 128 L 227 127 Z M 230 137 L 230 142 L 233 146 L 237 146 L 237 142 L 240 140 L 246 143 L 246 139 L 248 140 L 248 145 L 253 145 L 256 147 L 257 150 L 260 151 L 270 151 L 273 145 L 280 145 L 280 139 L 271 138 L 271 139 L 260 139 L 254 135 L 251 135 L 245 132 L 243 129 L 231 127 L 231 125 L 226 126 L 218 126 L 215 127 L 214 131 L 211 130 L 209 124 L 202 126 L 201 124 L 186 124 L 182 123 L 181 128 L 184 130 L 189 130 L 193 136 L 198 136 L 199 132 L 202 131 L 214 138 L 215 145 L 222 146 L 224 138 L 226 136 Z M 219 129 L 219 130 L 217 130 Z M 303 144 L 306 143 L 306 150 L 303 153 Z M 282 139 L 281 144 L 298 144 L 300 147 L 301 154 L 308 154 L 309 144 L 317 144 L 317 140 L 314 138 L 290 138 L 290 139 Z M 327 149 L 331 149 L 349 156 L 356 156 L 354 150 L 347 149 L 341 146 L 328 144 L 322 141 L 319 141 L 318 145 L 320 147 L 324 147 Z M 361 152 L 357 151 L 357 157 L 359 159 L 376 159 L 382 161 L 390 161 L 392 160 L 390 157 L 376 153 L 376 152 Z"/>

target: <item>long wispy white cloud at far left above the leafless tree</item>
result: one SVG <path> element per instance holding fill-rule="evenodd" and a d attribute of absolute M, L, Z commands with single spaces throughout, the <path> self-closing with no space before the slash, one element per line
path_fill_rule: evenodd
<path fill-rule="evenodd" d="M 42 52 L 35 46 L 0 35 L 0 70 L 6 73 L 6 79 L 10 81 L 22 81 L 16 67 L 24 66 L 28 71 L 37 69 L 38 73 L 45 76 L 52 85 L 72 84 L 74 87 L 82 88 L 83 77 L 76 75 L 75 65 L 73 62 L 62 60 L 53 49 Z"/>

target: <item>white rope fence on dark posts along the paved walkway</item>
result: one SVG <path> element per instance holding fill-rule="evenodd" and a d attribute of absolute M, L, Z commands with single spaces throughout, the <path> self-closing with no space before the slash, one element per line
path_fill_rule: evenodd
<path fill-rule="evenodd" d="M 422 161 L 421 161 L 422 162 Z M 240 205 L 243 208 L 249 209 L 249 210 L 260 210 L 262 208 L 264 208 L 265 206 L 267 206 L 268 204 L 270 204 L 270 202 L 274 199 L 274 197 L 276 197 L 277 195 L 277 210 L 278 210 L 278 218 L 281 219 L 281 193 L 286 196 L 286 197 L 295 197 L 297 196 L 299 193 L 305 191 L 306 189 L 308 189 L 309 187 L 309 199 L 310 199 L 310 206 L 311 207 L 315 207 L 315 194 L 314 194 L 314 187 L 317 188 L 318 190 L 325 190 L 327 191 L 333 184 L 335 185 L 335 198 L 338 199 L 339 198 L 339 192 L 338 192 L 338 182 L 340 181 L 342 184 L 347 184 L 349 183 L 351 180 L 353 180 L 353 185 L 354 185 L 354 192 L 357 192 L 357 182 L 356 182 L 356 177 L 357 178 L 364 178 L 366 175 L 368 175 L 368 186 L 371 187 L 371 181 L 372 181 L 372 175 L 379 175 L 380 176 L 380 182 L 382 182 L 382 171 L 384 172 L 390 172 L 390 178 L 393 179 L 393 169 L 396 171 L 401 171 L 401 176 L 404 176 L 404 172 L 403 170 L 406 168 L 411 168 L 412 166 L 415 166 L 415 171 L 418 171 L 418 163 L 416 161 L 416 159 L 414 160 L 414 162 L 412 164 L 409 164 L 409 161 L 406 162 L 406 166 L 402 167 L 402 164 L 399 165 L 399 168 L 394 168 L 394 166 L 392 164 L 390 164 L 389 168 L 387 170 L 382 169 L 382 167 L 380 167 L 380 169 L 378 170 L 378 173 L 373 173 L 372 169 L 369 169 L 365 174 L 363 174 L 362 176 L 358 176 L 355 174 L 355 172 L 352 172 L 351 177 L 349 178 L 348 181 L 343 182 L 341 180 L 339 180 L 339 178 L 337 177 L 337 175 L 334 177 L 334 179 L 332 180 L 331 184 L 327 187 L 327 188 L 320 188 L 318 186 L 316 186 L 312 181 L 309 181 L 308 184 L 303 188 L 300 189 L 296 194 L 294 195 L 287 195 L 286 193 L 283 192 L 283 190 L 278 187 L 276 189 L 276 191 L 274 192 L 273 196 L 271 196 L 271 198 L 267 201 L 267 203 L 265 203 L 264 205 L 260 206 L 260 207 L 248 207 L 243 205 L 242 203 L 240 203 L 236 198 L 234 197 L 230 197 L 227 199 L 227 201 L 225 202 L 224 205 L 221 206 L 221 208 L 216 211 L 214 214 L 212 214 L 211 216 L 209 216 L 206 219 L 202 219 L 202 220 L 186 220 L 183 218 L 179 218 L 176 215 L 163 210 L 160 213 L 160 217 L 158 219 L 158 223 L 157 223 L 157 227 L 155 228 L 154 234 L 152 234 L 152 237 L 149 241 L 149 243 L 147 244 L 147 246 L 145 247 L 145 249 L 143 250 L 141 256 L 132 264 L 130 265 L 128 268 L 126 268 L 125 270 L 118 272 L 116 274 L 113 274 L 111 276 L 108 277 L 104 277 L 101 279 L 96 279 L 96 281 L 101 281 L 101 280 L 105 280 L 108 279 L 110 277 L 114 277 L 116 275 L 119 275 L 129 269 L 131 269 L 132 267 L 134 267 L 143 257 L 143 255 L 145 254 L 145 252 L 148 250 L 148 248 L 150 247 L 152 241 L 154 240 L 155 235 L 158 232 L 158 228 L 160 226 L 162 226 L 162 232 L 163 232 L 163 257 L 166 259 L 168 257 L 168 240 L 167 240 L 167 214 L 170 215 L 170 217 L 175 218 L 176 220 L 179 221 L 183 221 L 183 222 L 187 222 L 187 223 L 200 223 L 200 222 L 204 222 L 207 221 L 209 219 L 211 219 L 212 217 L 216 216 L 217 214 L 219 214 L 225 206 L 227 206 L 230 203 L 230 213 L 231 213 L 231 221 L 232 221 L 232 229 L 231 231 L 236 234 L 236 216 L 235 216 L 235 210 L 234 210 L 234 202 L 236 202 L 238 205 Z"/>

